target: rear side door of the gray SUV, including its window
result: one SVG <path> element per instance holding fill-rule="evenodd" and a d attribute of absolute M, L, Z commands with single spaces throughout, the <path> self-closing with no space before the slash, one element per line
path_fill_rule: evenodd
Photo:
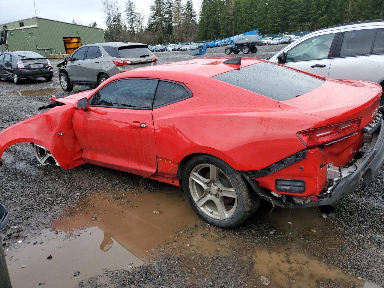
<path fill-rule="evenodd" d="M 102 56 L 98 46 L 88 46 L 85 60 L 82 63 L 85 84 L 97 86 L 97 75 L 101 68 Z"/>

